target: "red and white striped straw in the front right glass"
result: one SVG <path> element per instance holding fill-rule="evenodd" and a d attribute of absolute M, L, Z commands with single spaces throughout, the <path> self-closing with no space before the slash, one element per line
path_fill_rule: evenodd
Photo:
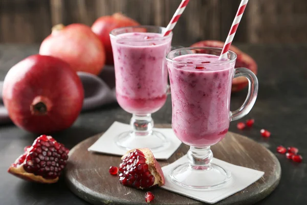
<path fill-rule="evenodd" d="M 235 15 L 235 18 L 233 20 L 232 26 L 230 28 L 229 34 L 227 36 L 226 42 L 224 44 L 224 47 L 223 47 L 223 50 L 222 50 L 222 53 L 221 53 L 219 59 L 227 58 L 227 53 L 228 53 L 229 47 L 232 43 L 234 34 L 235 34 L 235 32 L 236 32 L 236 30 L 239 26 L 240 20 L 243 16 L 243 13 L 244 13 L 244 10 L 245 10 L 247 3 L 248 3 L 248 0 L 242 0 L 241 3 L 240 3 L 239 9 L 238 9 L 238 11 Z"/>

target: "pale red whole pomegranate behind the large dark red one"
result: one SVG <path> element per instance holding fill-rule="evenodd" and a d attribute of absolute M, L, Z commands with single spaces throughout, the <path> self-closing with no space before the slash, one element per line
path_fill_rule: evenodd
<path fill-rule="evenodd" d="M 71 65 L 75 71 L 98 75 L 105 64 L 105 52 L 99 38 L 89 26 L 59 24 L 39 48 L 40 55 L 58 57 Z"/>

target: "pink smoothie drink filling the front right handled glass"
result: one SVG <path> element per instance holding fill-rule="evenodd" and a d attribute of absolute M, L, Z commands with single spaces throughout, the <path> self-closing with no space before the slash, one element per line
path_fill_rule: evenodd
<path fill-rule="evenodd" d="M 186 145 L 212 146 L 229 128 L 234 62 L 210 54 L 187 54 L 173 60 L 179 62 L 167 62 L 173 131 Z"/>

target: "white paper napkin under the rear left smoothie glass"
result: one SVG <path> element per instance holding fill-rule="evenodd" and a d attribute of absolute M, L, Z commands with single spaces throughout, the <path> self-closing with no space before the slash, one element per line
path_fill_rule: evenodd
<path fill-rule="evenodd" d="M 118 147 L 115 144 L 114 138 L 120 133 L 129 130 L 131 130 L 130 125 L 115 121 L 112 126 L 109 127 L 109 129 L 88 150 L 122 156 L 127 152 L 127 150 Z M 156 159 L 168 159 L 179 148 L 181 141 L 176 137 L 172 129 L 154 128 L 154 130 L 157 130 L 167 136 L 170 140 L 170 145 L 167 149 L 156 152 L 153 150 L 152 153 Z"/>

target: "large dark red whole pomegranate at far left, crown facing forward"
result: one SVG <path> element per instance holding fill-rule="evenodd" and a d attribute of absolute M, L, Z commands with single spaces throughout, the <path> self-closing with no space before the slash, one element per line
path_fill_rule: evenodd
<path fill-rule="evenodd" d="M 69 64 L 32 55 L 13 66 L 4 79 L 3 101 L 15 125 L 34 133 L 69 128 L 83 104 L 83 87 Z"/>

